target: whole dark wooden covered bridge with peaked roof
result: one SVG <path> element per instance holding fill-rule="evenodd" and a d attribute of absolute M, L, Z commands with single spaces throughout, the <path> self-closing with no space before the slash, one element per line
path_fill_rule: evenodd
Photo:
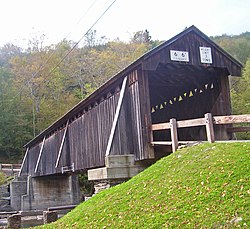
<path fill-rule="evenodd" d="M 171 148 L 154 147 L 152 142 L 170 140 L 170 133 L 153 133 L 152 125 L 173 117 L 230 115 L 228 76 L 240 76 L 241 68 L 191 26 L 137 59 L 28 142 L 20 176 L 36 182 L 50 180 L 51 185 L 51 180 L 68 172 L 98 174 L 98 169 L 116 163 L 107 162 L 108 157 L 129 156 L 128 164 L 135 166 L 167 155 Z M 181 129 L 178 134 L 180 140 L 206 139 L 201 126 Z M 230 137 L 225 126 L 215 128 L 217 140 Z M 100 179 L 107 178 L 103 174 Z M 38 192 L 33 191 L 34 196 Z"/>

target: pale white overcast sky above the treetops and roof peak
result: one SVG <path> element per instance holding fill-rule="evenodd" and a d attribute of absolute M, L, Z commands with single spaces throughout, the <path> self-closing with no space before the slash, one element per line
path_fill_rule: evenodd
<path fill-rule="evenodd" d="M 0 0 L 0 46 L 78 41 L 114 0 Z M 168 40 L 195 25 L 208 36 L 250 31 L 250 0 L 116 0 L 92 28 L 99 37 L 129 41 L 136 31 Z"/>

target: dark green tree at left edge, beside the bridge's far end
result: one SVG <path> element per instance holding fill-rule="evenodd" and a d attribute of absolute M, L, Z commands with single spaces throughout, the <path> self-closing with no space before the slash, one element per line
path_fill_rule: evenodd
<path fill-rule="evenodd" d="M 20 159 L 23 144 L 32 137 L 26 106 L 16 96 L 13 78 L 9 69 L 0 68 L 0 155 L 8 161 Z"/>

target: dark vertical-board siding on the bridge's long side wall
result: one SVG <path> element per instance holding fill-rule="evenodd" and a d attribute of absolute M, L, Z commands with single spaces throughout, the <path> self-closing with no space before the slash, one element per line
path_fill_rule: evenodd
<path fill-rule="evenodd" d="M 149 104 L 145 106 L 148 102 L 141 102 L 141 97 L 145 100 L 146 92 L 139 93 L 139 90 L 145 87 L 145 79 L 138 81 L 138 72 L 142 74 L 141 71 L 134 70 L 128 75 L 129 80 L 110 154 L 134 154 L 136 160 L 144 160 L 152 158 L 153 149 L 148 148 L 150 140 L 145 137 L 149 133 L 146 127 L 148 121 L 145 121 L 145 117 L 146 112 L 150 112 L 150 106 Z M 43 176 L 60 173 L 62 167 L 65 167 L 65 170 L 79 171 L 105 166 L 105 153 L 119 96 L 120 86 L 117 85 L 113 93 L 107 93 L 105 98 L 101 97 L 98 102 L 84 109 L 81 115 L 71 120 L 57 168 L 55 165 L 66 125 L 46 137 L 36 173 L 35 165 L 42 142 L 29 149 L 22 173 Z"/>

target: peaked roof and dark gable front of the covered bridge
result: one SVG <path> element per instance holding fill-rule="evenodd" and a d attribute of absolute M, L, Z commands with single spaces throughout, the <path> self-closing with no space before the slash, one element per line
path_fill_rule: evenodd
<path fill-rule="evenodd" d="M 213 56 L 213 60 L 211 60 L 211 62 L 209 62 L 210 60 L 205 60 L 202 63 L 202 50 L 200 50 L 200 52 L 194 52 L 193 49 L 195 45 L 197 45 L 195 43 L 197 43 L 199 47 L 208 47 L 210 49 L 209 52 Z M 170 54 L 170 52 L 173 52 L 173 55 L 176 54 L 177 59 L 174 59 L 175 57 L 171 56 L 172 54 Z M 188 59 L 181 59 L 181 54 L 189 55 Z M 80 103 L 74 106 L 64 116 L 50 125 L 47 129 L 42 131 L 24 147 L 27 148 L 38 142 L 41 142 L 44 136 L 50 135 L 51 133 L 64 128 L 68 120 L 74 120 L 74 117 L 77 117 L 77 115 L 80 114 L 83 109 L 88 109 L 89 106 L 91 106 L 102 96 L 107 94 L 115 85 L 120 85 L 123 78 L 135 69 L 154 71 L 159 64 L 169 64 L 173 62 L 183 65 L 191 64 L 197 67 L 207 66 L 225 68 L 228 71 L 228 74 L 232 76 L 240 76 L 242 68 L 242 64 L 239 61 L 237 61 L 229 53 L 224 51 L 195 26 L 191 26 L 178 35 L 174 36 L 170 40 L 162 43 L 161 45 L 142 55 L 128 67 L 110 78 L 106 83 L 104 83 L 96 91 L 90 94 L 86 99 L 82 100 Z"/>

